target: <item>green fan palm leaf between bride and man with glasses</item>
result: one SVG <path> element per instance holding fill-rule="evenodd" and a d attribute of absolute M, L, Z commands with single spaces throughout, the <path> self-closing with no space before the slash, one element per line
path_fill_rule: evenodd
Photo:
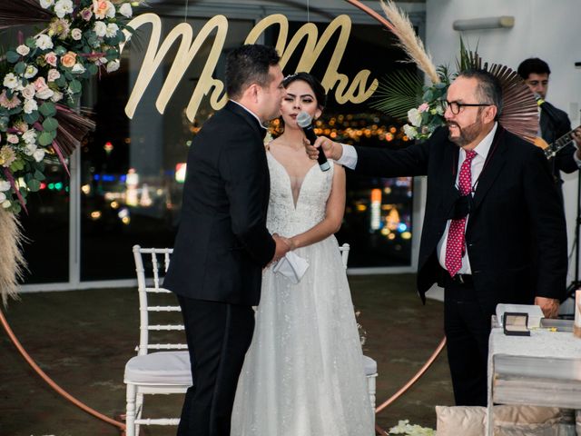
<path fill-rule="evenodd" d="M 373 94 L 376 101 L 370 106 L 394 118 L 405 120 L 409 109 L 421 103 L 423 84 L 419 74 L 409 70 L 396 70 L 379 82 L 378 89 Z"/>

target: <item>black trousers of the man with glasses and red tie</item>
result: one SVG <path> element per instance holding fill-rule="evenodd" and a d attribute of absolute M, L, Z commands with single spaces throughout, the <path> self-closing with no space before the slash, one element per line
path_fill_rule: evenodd
<path fill-rule="evenodd" d="M 458 406 L 487 405 L 490 314 L 484 313 L 471 282 L 445 281 L 444 331 Z"/>

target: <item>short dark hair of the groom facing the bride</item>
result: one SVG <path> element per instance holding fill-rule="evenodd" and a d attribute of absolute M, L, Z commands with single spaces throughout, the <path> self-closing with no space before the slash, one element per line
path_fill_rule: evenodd
<path fill-rule="evenodd" d="M 226 92 L 232 99 L 241 97 L 251 84 L 262 87 L 271 84 L 269 69 L 281 56 L 272 47 L 259 44 L 242 45 L 226 58 Z"/>

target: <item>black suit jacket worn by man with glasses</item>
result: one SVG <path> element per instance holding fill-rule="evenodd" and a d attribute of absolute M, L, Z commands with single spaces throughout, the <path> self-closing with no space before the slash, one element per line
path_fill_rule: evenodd
<path fill-rule="evenodd" d="M 423 144 L 399 151 L 358 148 L 357 171 L 384 177 L 428 175 L 419 248 L 418 288 L 441 279 L 437 245 L 455 201 L 457 145 L 441 128 Z M 566 224 L 547 159 L 500 125 L 479 176 L 466 243 L 478 302 L 489 315 L 498 302 L 562 298 L 566 288 Z"/>

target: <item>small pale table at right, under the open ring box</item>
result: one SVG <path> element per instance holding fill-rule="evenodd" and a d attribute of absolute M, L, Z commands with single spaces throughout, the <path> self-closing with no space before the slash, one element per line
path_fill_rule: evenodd
<path fill-rule="evenodd" d="M 493 326 L 495 320 L 493 320 Z M 581 409 L 581 339 L 573 322 L 543 320 L 530 336 L 507 336 L 493 327 L 488 351 L 487 434 L 493 433 L 492 405 L 528 404 Z"/>

